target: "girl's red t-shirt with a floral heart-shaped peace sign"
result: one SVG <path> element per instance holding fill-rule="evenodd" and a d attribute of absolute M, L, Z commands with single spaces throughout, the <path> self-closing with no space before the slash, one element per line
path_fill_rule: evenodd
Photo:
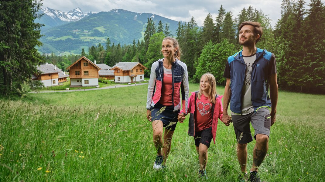
<path fill-rule="evenodd" d="M 212 127 L 212 104 L 204 94 L 201 95 L 201 99 L 197 98 L 194 113 L 196 132 Z"/>

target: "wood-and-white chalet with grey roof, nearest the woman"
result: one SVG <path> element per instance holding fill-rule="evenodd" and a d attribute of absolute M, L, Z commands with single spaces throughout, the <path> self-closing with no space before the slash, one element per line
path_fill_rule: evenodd
<path fill-rule="evenodd" d="M 133 83 L 144 80 L 147 68 L 138 62 L 119 62 L 110 70 L 114 70 L 115 83 Z"/>

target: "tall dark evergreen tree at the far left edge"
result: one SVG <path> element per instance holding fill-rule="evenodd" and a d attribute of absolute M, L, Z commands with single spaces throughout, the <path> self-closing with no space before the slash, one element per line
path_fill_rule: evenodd
<path fill-rule="evenodd" d="M 37 72 L 41 56 L 36 46 L 41 46 L 39 23 L 40 1 L 12 0 L 0 3 L 0 92 L 8 94 L 20 89 Z"/>

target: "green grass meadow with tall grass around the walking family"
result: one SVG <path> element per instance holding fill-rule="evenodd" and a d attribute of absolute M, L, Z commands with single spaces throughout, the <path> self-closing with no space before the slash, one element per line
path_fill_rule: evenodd
<path fill-rule="evenodd" d="M 208 150 L 208 179 L 197 175 L 188 118 L 176 126 L 167 169 L 152 168 L 147 87 L 0 100 L 0 181 L 236 181 L 233 126 L 220 121 L 216 145 Z M 190 84 L 190 91 L 197 89 Z M 223 87 L 217 92 L 223 94 Z M 325 181 L 324 108 L 324 95 L 279 92 L 277 122 L 259 168 L 262 181 Z M 248 144 L 248 169 L 254 143 Z"/>

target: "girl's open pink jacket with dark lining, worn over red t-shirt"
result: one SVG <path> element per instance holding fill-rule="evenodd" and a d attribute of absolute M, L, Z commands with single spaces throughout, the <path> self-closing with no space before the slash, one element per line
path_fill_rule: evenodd
<path fill-rule="evenodd" d="M 198 92 L 191 92 L 191 96 L 188 99 L 188 110 L 187 113 L 183 112 L 181 110 L 180 113 L 188 114 L 190 113 L 189 116 L 189 122 L 188 122 L 188 135 L 194 136 L 195 135 L 195 121 L 194 121 L 194 112 L 195 112 L 195 95 Z M 222 120 L 223 116 L 223 106 L 221 102 L 222 95 L 216 95 L 215 96 L 215 104 L 213 108 L 213 113 L 212 113 L 212 138 L 213 138 L 213 143 L 215 144 L 215 135 L 217 132 L 217 125 L 218 125 L 218 118 Z"/>

